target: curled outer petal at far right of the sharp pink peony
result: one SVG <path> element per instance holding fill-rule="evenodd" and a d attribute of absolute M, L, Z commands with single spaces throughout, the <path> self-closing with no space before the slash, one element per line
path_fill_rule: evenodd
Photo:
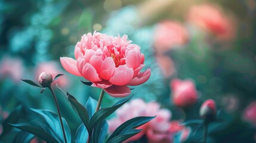
<path fill-rule="evenodd" d="M 136 77 L 134 77 L 127 85 L 141 85 L 142 83 L 146 82 L 151 74 L 151 70 L 147 69 L 143 73 L 139 73 Z"/>

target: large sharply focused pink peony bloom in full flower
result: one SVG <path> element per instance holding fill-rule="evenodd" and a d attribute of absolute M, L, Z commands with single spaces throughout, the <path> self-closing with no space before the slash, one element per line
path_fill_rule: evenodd
<path fill-rule="evenodd" d="M 144 72 L 144 54 L 140 46 L 131 44 L 127 35 L 108 36 L 94 32 L 83 35 L 76 43 L 75 60 L 61 57 L 65 70 L 83 76 L 97 88 L 103 88 L 112 97 L 125 97 L 131 93 L 127 85 L 135 86 L 146 82 L 150 69 Z"/>

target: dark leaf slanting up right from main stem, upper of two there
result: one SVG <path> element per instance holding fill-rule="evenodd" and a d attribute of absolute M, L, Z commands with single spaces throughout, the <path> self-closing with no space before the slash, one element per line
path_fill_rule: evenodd
<path fill-rule="evenodd" d="M 120 100 L 115 105 L 109 108 L 100 108 L 100 110 L 95 112 L 94 115 L 91 117 L 91 120 L 89 122 L 90 128 L 93 129 L 98 123 L 106 119 L 107 116 L 112 114 L 114 111 L 116 111 L 119 107 L 124 105 L 131 98 L 132 97 L 128 97 L 123 100 Z"/>

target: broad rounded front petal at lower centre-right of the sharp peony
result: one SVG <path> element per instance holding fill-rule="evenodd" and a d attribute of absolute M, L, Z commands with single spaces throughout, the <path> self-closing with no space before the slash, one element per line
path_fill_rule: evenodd
<path fill-rule="evenodd" d="M 109 82 L 113 85 L 126 85 L 133 77 L 133 70 L 127 66 L 119 66 L 110 78 Z"/>

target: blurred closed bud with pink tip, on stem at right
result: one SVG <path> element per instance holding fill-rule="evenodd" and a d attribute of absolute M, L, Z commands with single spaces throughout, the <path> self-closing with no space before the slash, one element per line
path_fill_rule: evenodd
<path fill-rule="evenodd" d="M 200 108 L 200 116 L 207 121 L 216 118 L 216 105 L 214 100 L 209 99 L 203 102 Z"/>

